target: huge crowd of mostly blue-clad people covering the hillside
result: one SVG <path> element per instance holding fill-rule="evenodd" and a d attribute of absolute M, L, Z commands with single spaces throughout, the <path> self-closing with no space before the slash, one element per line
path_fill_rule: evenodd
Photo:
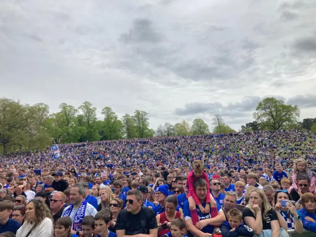
<path fill-rule="evenodd" d="M 0 237 L 316 233 L 316 134 L 60 144 L 0 156 Z"/>

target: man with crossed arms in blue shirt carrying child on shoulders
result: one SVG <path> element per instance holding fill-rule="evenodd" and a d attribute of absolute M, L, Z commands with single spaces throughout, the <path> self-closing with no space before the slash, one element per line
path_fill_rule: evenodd
<path fill-rule="evenodd" d="M 204 179 L 198 178 L 194 182 L 194 189 L 197 195 L 197 198 L 201 202 L 201 205 L 205 207 L 206 203 L 206 194 L 207 194 L 207 184 Z M 197 215 L 199 222 L 194 226 L 191 218 L 189 201 L 184 203 L 184 220 L 188 231 L 191 232 L 193 236 L 198 237 L 211 237 L 214 231 L 214 226 L 220 226 L 225 221 L 225 214 L 221 209 L 220 205 L 217 203 L 218 215 L 216 217 L 211 217 L 210 212 L 203 214 L 200 209 L 197 207 Z"/>

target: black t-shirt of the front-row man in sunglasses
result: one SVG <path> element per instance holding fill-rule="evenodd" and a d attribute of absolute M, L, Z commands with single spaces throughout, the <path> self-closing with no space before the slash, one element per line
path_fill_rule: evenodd
<path fill-rule="evenodd" d="M 125 230 L 126 236 L 149 235 L 149 230 L 156 228 L 156 214 L 152 208 L 142 206 L 137 214 L 132 214 L 126 209 L 118 213 L 116 230 Z"/>

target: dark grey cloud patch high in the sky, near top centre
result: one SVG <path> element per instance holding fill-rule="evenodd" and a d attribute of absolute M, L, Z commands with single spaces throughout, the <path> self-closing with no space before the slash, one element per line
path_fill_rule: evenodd
<path fill-rule="evenodd" d="M 162 36 L 154 29 L 149 19 L 136 19 L 132 29 L 122 34 L 120 40 L 124 43 L 155 43 L 162 40 Z"/>

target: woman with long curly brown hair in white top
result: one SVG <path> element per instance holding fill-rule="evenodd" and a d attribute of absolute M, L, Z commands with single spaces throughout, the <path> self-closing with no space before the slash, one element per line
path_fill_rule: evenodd
<path fill-rule="evenodd" d="M 47 205 L 40 199 L 28 202 L 23 226 L 16 233 L 16 237 L 52 237 L 53 217 Z"/>

